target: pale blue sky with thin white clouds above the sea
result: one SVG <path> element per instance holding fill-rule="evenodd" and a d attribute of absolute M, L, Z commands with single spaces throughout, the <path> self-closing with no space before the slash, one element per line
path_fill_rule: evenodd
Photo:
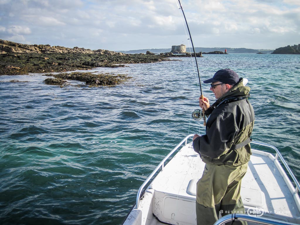
<path fill-rule="evenodd" d="M 181 0 L 195 47 L 300 44 L 300 0 Z M 0 39 L 128 51 L 191 46 L 178 0 L 0 0 Z"/>

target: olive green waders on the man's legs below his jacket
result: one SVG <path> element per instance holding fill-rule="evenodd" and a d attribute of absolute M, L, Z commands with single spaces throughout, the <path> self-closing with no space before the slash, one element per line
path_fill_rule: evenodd
<path fill-rule="evenodd" d="M 248 163 L 233 167 L 206 164 L 202 178 L 197 182 L 196 215 L 197 225 L 213 225 L 219 217 L 232 213 L 245 213 L 241 200 L 241 179 Z M 227 224 L 247 224 L 235 221 Z"/>

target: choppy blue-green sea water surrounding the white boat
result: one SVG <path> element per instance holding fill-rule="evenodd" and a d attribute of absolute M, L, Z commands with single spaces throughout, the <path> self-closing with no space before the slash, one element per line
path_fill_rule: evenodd
<path fill-rule="evenodd" d="M 198 59 L 201 79 L 231 68 L 249 79 L 253 140 L 276 146 L 300 180 L 300 55 Z M 45 85 L 41 74 L 0 76 L 1 224 L 119 224 L 157 164 L 187 134 L 198 108 L 190 58 L 96 71 L 116 86 Z M 203 94 L 214 102 L 209 85 Z"/>

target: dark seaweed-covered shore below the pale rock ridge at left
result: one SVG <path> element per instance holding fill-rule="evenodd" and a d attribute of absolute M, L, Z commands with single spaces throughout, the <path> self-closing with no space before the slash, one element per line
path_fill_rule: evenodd
<path fill-rule="evenodd" d="M 84 54 L 84 53 L 5 53 L 0 54 L 1 75 L 51 73 L 89 70 L 95 67 L 125 67 L 124 64 L 167 61 L 166 56 L 140 54 Z M 111 55 L 108 55 L 111 54 Z"/>

